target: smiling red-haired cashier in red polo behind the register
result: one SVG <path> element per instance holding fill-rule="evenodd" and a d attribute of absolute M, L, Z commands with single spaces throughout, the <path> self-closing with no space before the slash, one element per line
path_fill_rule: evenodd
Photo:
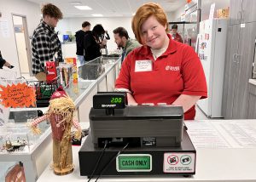
<path fill-rule="evenodd" d="M 194 49 L 172 41 L 166 14 L 157 3 L 137 9 L 132 30 L 143 46 L 125 58 L 116 90 L 128 93 L 129 105 L 182 105 L 184 118 L 194 119 L 196 101 L 207 98 L 206 78 Z"/>

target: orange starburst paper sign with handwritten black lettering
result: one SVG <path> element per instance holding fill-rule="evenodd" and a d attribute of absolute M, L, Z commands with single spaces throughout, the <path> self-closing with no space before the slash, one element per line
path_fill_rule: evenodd
<path fill-rule="evenodd" d="M 36 94 L 32 87 L 26 83 L 18 83 L 17 85 L 8 85 L 3 87 L 0 85 L 0 100 L 5 107 L 29 107 L 35 106 Z"/>

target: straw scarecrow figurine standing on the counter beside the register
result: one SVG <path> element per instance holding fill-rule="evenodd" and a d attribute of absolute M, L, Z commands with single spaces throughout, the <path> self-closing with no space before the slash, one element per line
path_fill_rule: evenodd
<path fill-rule="evenodd" d="M 37 128 L 39 122 L 49 120 L 53 139 L 53 169 L 57 175 L 65 175 L 73 172 L 72 156 L 72 124 L 78 131 L 73 138 L 81 139 L 81 128 L 79 122 L 73 120 L 75 105 L 73 100 L 67 96 L 65 90 L 60 87 L 49 100 L 49 110 L 43 117 L 38 117 L 31 123 L 32 132 L 40 134 Z"/>

